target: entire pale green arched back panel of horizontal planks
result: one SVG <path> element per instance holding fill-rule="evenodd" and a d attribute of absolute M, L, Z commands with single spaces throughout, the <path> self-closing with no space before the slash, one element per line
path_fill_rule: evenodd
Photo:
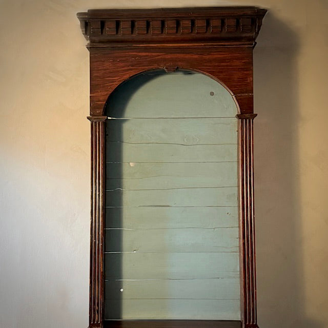
<path fill-rule="evenodd" d="M 240 319 L 236 113 L 198 73 L 149 72 L 111 95 L 106 319 Z"/>

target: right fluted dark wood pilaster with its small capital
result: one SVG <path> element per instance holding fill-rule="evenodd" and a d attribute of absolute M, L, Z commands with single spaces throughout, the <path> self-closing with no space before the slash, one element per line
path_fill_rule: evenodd
<path fill-rule="evenodd" d="M 257 328 L 254 229 L 253 120 L 257 114 L 238 114 L 241 298 L 244 328 Z"/>

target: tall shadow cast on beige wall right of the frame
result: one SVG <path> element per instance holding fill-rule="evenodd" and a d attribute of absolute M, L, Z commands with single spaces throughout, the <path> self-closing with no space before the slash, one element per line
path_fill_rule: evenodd
<path fill-rule="evenodd" d="M 271 12 L 254 50 L 258 322 L 324 325 L 306 317 L 298 149 L 299 42 Z"/>

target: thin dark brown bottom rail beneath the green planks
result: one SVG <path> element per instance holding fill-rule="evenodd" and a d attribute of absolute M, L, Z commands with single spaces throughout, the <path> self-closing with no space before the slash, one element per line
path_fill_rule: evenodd
<path fill-rule="evenodd" d="M 105 320 L 105 328 L 241 328 L 226 320 Z"/>

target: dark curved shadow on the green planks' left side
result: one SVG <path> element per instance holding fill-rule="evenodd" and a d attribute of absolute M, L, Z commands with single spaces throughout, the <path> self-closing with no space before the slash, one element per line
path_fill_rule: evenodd
<path fill-rule="evenodd" d="M 105 113 L 109 117 L 124 118 L 125 111 L 134 93 L 157 78 L 159 70 L 140 73 L 119 85 L 108 97 Z M 166 74 L 164 71 L 162 74 Z M 126 84 L 129 88 L 126 88 Z M 122 95 L 123 93 L 123 95 Z M 122 140 L 125 119 L 110 119 L 106 121 L 106 215 L 105 215 L 105 319 L 122 318 L 122 251 L 123 251 L 123 208 L 120 194 L 113 195 L 113 191 L 123 190 L 122 176 L 124 160 L 122 146 L 117 140 Z M 126 163 L 126 165 L 128 165 Z"/>

